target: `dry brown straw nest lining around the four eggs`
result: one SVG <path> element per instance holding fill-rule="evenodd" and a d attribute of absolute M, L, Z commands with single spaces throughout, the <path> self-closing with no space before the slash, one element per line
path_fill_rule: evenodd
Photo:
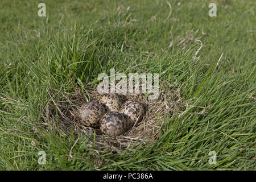
<path fill-rule="evenodd" d="M 146 114 L 139 123 L 135 123 L 131 129 L 119 136 L 106 136 L 100 129 L 92 129 L 80 124 L 78 117 L 80 107 L 88 100 L 98 101 L 101 96 L 97 89 L 93 88 L 85 88 L 84 93 L 75 89 L 75 92 L 66 93 L 66 96 L 62 94 L 59 101 L 49 93 L 52 102 L 47 105 L 46 118 L 51 119 L 53 125 L 58 121 L 56 126 L 65 134 L 70 133 L 71 128 L 76 136 L 85 134 L 88 138 L 88 147 L 120 153 L 127 148 L 138 148 L 159 139 L 166 118 L 170 118 L 174 110 L 181 107 L 180 88 L 175 92 L 170 92 L 167 86 L 165 88 L 160 90 L 157 100 L 147 100 L 144 94 L 123 95 L 124 100 L 134 98 L 141 102 L 146 109 Z"/>

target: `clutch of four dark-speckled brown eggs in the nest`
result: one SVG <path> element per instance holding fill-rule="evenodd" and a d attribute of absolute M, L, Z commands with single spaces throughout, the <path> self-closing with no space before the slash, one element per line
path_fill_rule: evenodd
<path fill-rule="evenodd" d="M 100 128 L 105 135 L 118 136 L 140 122 L 143 114 L 141 102 L 134 99 L 123 102 L 118 94 L 105 93 L 97 102 L 82 105 L 79 119 L 84 126 Z"/>

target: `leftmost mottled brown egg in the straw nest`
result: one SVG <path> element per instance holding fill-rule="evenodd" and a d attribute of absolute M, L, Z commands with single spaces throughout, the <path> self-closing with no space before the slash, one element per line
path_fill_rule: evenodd
<path fill-rule="evenodd" d="M 100 126 L 100 120 L 105 113 L 105 108 L 101 104 L 90 101 L 81 106 L 79 119 L 84 126 L 98 128 Z"/>

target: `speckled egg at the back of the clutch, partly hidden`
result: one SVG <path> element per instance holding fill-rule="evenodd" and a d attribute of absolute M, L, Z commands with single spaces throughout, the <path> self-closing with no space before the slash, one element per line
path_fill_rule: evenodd
<path fill-rule="evenodd" d="M 122 105 L 122 100 L 116 93 L 102 94 L 99 102 L 104 105 L 108 111 L 118 112 Z"/>

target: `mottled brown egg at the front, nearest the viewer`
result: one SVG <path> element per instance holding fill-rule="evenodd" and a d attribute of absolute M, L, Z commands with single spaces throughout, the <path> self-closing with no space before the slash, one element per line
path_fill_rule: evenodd
<path fill-rule="evenodd" d="M 123 114 L 111 111 L 102 117 L 100 129 L 105 135 L 121 135 L 126 131 L 126 119 Z"/>

